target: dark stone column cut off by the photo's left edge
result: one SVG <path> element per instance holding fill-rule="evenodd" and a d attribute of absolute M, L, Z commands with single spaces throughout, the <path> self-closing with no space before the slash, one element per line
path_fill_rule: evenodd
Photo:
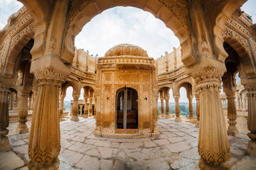
<path fill-rule="evenodd" d="M 11 145 L 7 137 L 9 130 L 9 89 L 0 82 L 0 152 L 11 150 Z"/>

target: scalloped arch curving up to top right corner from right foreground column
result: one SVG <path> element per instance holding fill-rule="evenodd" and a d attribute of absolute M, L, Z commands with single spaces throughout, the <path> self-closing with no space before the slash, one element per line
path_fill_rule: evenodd
<path fill-rule="evenodd" d="M 223 47 L 223 30 L 224 30 L 224 25 L 225 22 L 228 21 L 228 19 L 232 16 L 235 10 L 240 8 L 242 4 L 245 3 L 246 0 L 241 0 L 241 1 L 226 1 L 224 5 L 220 6 L 220 8 L 215 8 L 215 10 L 219 10 L 218 16 L 214 17 L 214 11 L 213 8 L 211 8 L 213 11 L 213 17 L 215 18 L 215 23 L 213 23 L 213 34 L 215 35 L 214 37 L 214 45 L 217 48 L 215 50 L 218 52 L 218 60 L 221 62 L 225 61 L 225 58 L 228 57 L 227 52 L 225 52 L 224 47 Z M 219 3 L 216 1 L 216 3 Z M 210 6 L 209 6 L 210 7 Z"/>

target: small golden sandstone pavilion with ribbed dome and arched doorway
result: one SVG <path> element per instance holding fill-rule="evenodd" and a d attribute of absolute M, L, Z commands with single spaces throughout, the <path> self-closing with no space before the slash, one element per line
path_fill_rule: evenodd
<path fill-rule="evenodd" d="M 158 136 L 156 67 L 146 50 L 116 45 L 97 62 L 95 135 Z"/>

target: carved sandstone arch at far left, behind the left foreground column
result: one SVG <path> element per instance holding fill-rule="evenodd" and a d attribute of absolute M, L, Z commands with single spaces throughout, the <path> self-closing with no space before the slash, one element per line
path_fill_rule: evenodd
<path fill-rule="evenodd" d="M 9 53 L 7 55 L 6 64 L 4 67 L 4 77 L 11 78 L 14 75 L 14 67 L 18 54 L 34 35 L 34 27 L 33 24 L 31 24 L 11 39 L 11 45 L 9 47 Z"/>

